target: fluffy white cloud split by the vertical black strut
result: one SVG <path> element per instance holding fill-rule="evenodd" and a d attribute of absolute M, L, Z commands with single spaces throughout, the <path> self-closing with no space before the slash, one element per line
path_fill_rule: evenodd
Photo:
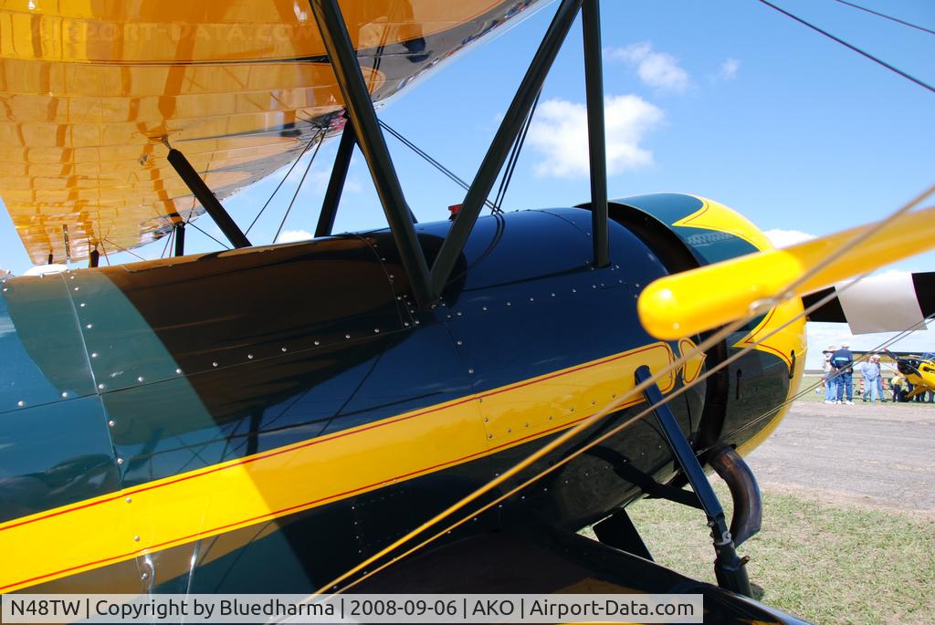
<path fill-rule="evenodd" d="M 662 118 L 660 108 L 637 95 L 609 95 L 604 99 L 609 175 L 653 163 L 653 153 L 641 148 L 640 141 Z M 588 175 L 585 105 L 558 98 L 540 103 L 528 138 L 544 157 L 536 164 L 538 176 Z"/>

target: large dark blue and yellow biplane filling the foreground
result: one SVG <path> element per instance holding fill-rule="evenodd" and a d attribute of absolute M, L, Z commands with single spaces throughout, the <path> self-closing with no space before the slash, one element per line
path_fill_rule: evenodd
<path fill-rule="evenodd" d="M 4 6 L 0 194 L 36 263 L 90 267 L 0 290 L 0 592 L 699 592 L 706 622 L 799 622 L 749 598 L 742 456 L 797 389 L 801 295 L 863 268 L 797 280 L 848 234 L 773 250 L 700 196 L 609 201 L 597 0 L 555 3 L 453 219 L 410 213 L 375 103 L 537 5 Z M 579 13 L 590 201 L 482 217 Z M 252 245 L 223 199 L 331 138 L 316 237 Z M 335 234 L 354 146 L 389 227 Z M 199 218 L 233 249 L 186 255 Z M 699 508 L 718 586 L 654 563 L 646 496 Z"/>

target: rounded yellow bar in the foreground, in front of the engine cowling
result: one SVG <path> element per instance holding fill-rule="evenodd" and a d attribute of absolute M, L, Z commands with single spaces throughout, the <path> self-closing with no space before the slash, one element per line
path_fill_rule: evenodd
<path fill-rule="evenodd" d="M 819 263 L 867 229 L 876 234 L 798 283 Z M 935 207 L 909 213 L 893 225 L 858 226 L 785 249 L 748 254 L 655 280 L 640 293 L 637 309 L 649 334 L 675 340 L 746 317 L 755 303 L 786 294 L 801 296 L 935 248 Z"/>

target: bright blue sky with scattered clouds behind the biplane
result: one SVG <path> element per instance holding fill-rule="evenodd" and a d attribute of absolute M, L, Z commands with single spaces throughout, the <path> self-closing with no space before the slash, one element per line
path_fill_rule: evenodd
<path fill-rule="evenodd" d="M 860 3 L 935 28 L 935 4 L 928 0 Z M 609 121 L 616 124 L 609 138 L 615 150 L 611 197 L 693 192 L 741 211 L 763 230 L 820 235 L 882 219 L 935 182 L 931 92 L 755 0 L 602 4 L 605 92 Z M 935 36 L 833 0 L 777 4 L 935 83 Z M 381 107 L 381 119 L 469 181 L 553 10 L 544 7 L 445 64 Z M 588 199 L 586 170 L 575 150 L 562 149 L 575 138 L 574 120 L 584 101 L 581 49 L 581 30 L 575 27 L 546 83 L 536 126 L 507 195 L 508 210 Z M 392 137 L 388 143 L 417 217 L 445 219 L 447 206 L 460 202 L 464 193 Z M 321 149 L 286 231 L 314 230 L 336 147 L 334 140 Z M 304 163 L 296 167 L 259 220 L 251 233 L 255 243 L 272 242 L 303 169 Z M 283 173 L 225 202 L 242 226 Z M 384 223 L 358 156 L 336 230 Z M 217 235 L 207 218 L 199 225 Z M 218 248 L 192 229 L 188 243 L 193 252 Z M 153 258 L 162 249 L 156 243 L 137 253 Z M 123 254 L 110 260 L 135 259 Z M 20 274 L 29 266 L 3 211 L 0 267 Z M 935 253 L 895 268 L 933 271 Z M 847 331 L 823 333 L 813 340 L 840 342 Z M 898 348 L 935 348 L 930 334 L 916 333 Z M 852 344 L 862 341 L 856 338 Z"/>

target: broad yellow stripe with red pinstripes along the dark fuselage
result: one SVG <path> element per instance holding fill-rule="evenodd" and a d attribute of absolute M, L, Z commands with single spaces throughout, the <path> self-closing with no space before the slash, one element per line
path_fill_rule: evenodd
<path fill-rule="evenodd" d="M 494 454 L 586 419 L 634 386 L 654 343 L 492 391 L 0 525 L 9 592 L 231 532 Z M 662 391 L 675 377 L 660 380 Z M 623 406 L 636 405 L 641 396 Z"/>

